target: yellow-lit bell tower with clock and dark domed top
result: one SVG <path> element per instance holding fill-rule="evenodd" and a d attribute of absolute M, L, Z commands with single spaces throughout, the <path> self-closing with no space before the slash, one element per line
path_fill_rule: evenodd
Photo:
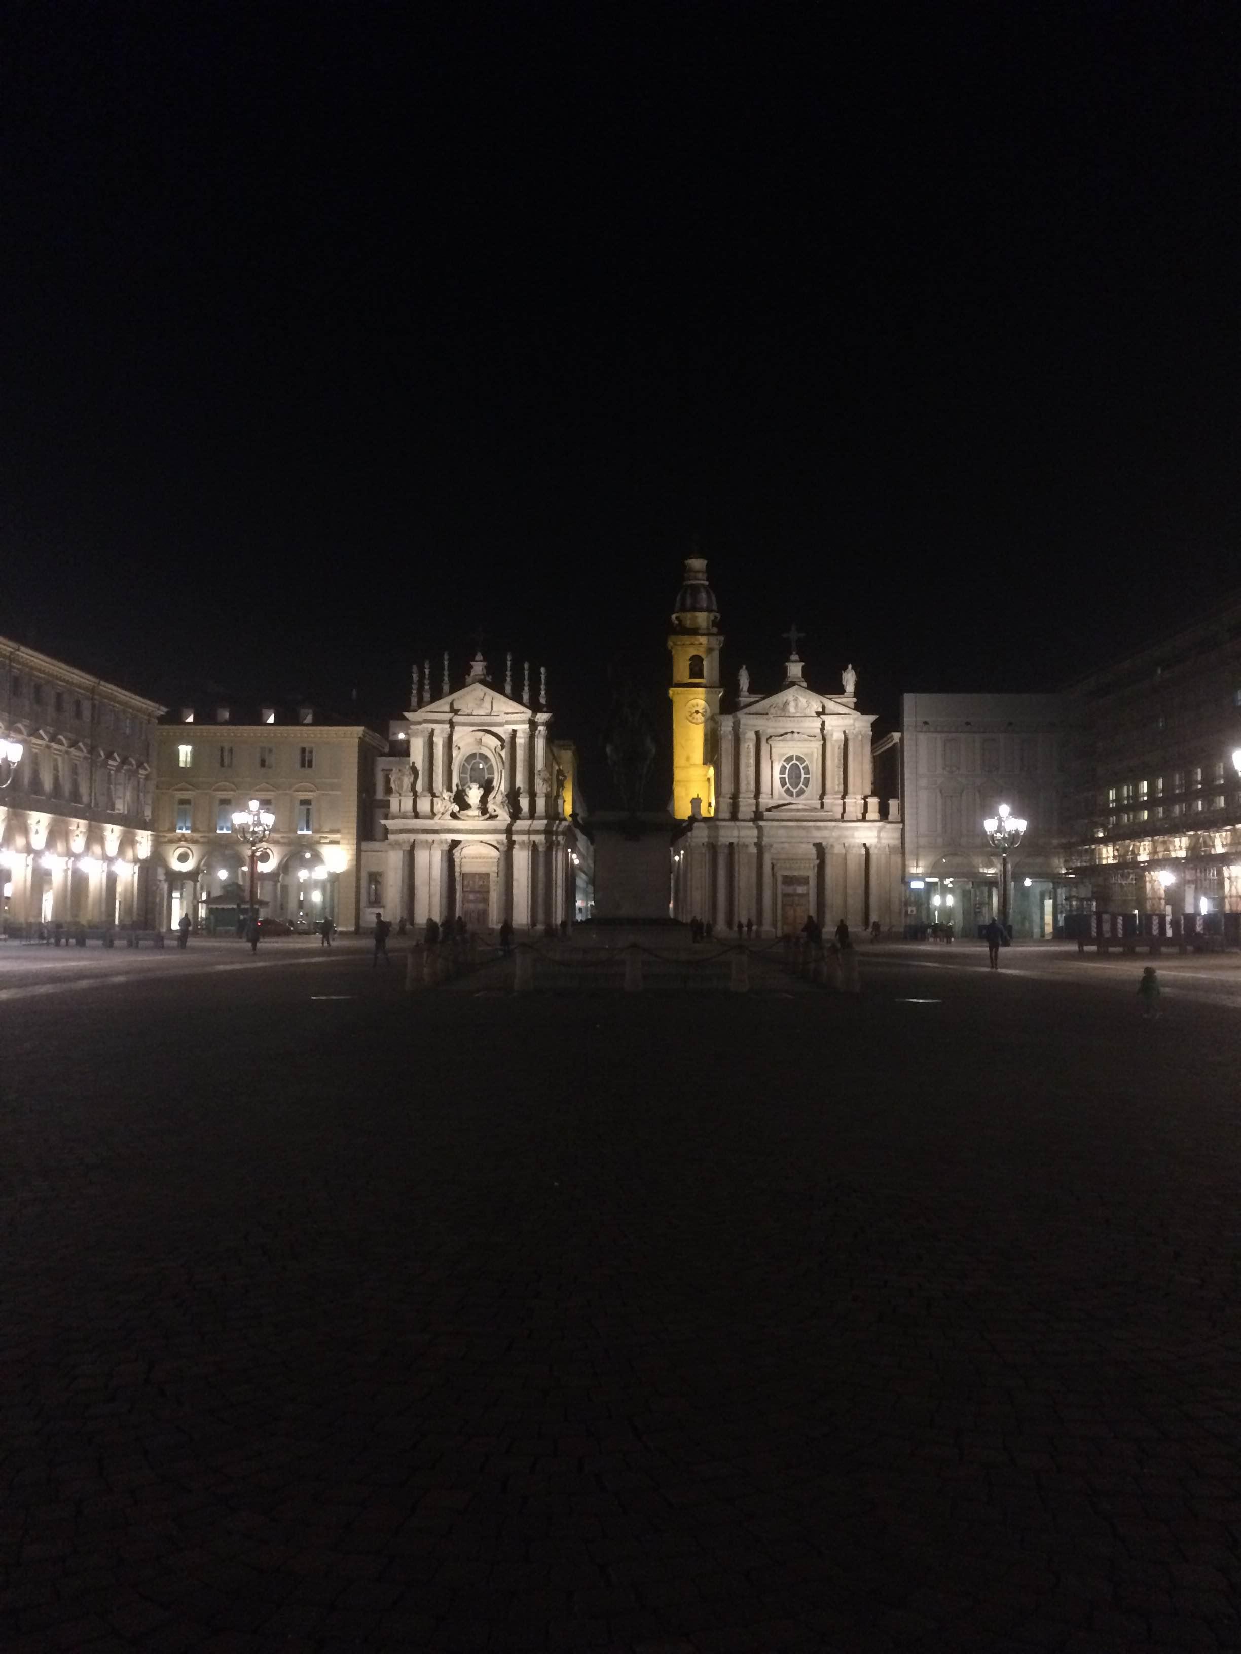
<path fill-rule="evenodd" d="M 707 584 L 707 559 L 685 559 L 685 581 L 672 615 L 672 814 L 715 815 L 715 758 L 720 743 L 720 614 Z"/>

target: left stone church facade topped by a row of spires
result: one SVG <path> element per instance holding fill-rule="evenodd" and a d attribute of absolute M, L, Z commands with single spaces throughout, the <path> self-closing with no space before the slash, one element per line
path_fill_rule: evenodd
<path fill-rule="evenodd" d="M 364 923 L 460 918 L 472 931 L 505 921 L 529 931 L 586 918 L 592 852 L 571 820 L 582 807 L 577 754 L 551 738 L 546 688 L 533 708 L 528 670 L 518 698 L 508 673 L 503 690 L 490 681 L 482 653 L 457 688 L 445 663 L 435 700 L 427 680 L 374 762 Z"/>

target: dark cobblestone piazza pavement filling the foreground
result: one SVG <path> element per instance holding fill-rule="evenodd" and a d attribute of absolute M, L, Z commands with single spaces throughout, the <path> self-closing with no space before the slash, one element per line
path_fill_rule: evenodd
<path fill-rule="evenodd" d="M 1241 968 L 0 948 L 0 1647 L 1239 1649 Z"/>

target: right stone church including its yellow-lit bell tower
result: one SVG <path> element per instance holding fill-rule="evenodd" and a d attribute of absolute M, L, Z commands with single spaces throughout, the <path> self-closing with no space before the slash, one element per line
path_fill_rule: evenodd
<path fill-rule="evenodd" d="M 796 632 L 784 681 L 753 691 L 745 667 L 725 703 L 720 612 L 707 562 L 688 557 L 668 635 L 673 814 L 688 820 L 672 868 L 678 920 L 764 936 L 844 918 L 902 923 L 900 802 L 872 791 L 874 715 L 857 675 L 822 693 L 806 680 Z"/>

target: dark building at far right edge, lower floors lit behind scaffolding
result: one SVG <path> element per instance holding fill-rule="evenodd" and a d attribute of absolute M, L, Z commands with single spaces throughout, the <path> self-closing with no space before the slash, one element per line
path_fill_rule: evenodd
<path fill-rule="evenodd" d="M 1241 599 L 1071 695 L 1066 853 L 1082 905 L 1191 915 L 1241 939 Z"/>

